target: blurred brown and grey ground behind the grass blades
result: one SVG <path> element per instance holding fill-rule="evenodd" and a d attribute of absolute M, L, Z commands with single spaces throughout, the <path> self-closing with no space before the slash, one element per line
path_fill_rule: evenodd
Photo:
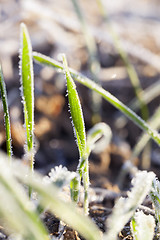
<path fill-rule="evenodd" d="M 114 47 L 109 27 L 101 17 L 96 1 L 80 0 L 79 3 L 88 31 L 96 42 L 97 59 L 100 63 L 98 73 L 100 84 L 123 103 L 129 105 L 135 98 L 135 93 L 124 63 Z M 112 27 L 121 39 L 121 44 L 138 73 L 142 88 L 158 83 L 160 74 L 159 1 L 105 0 L 104 5 Z M 34 51 L 54 59 L 58 59 L 58 54 L 64 52 L 70 67 L 91 77 L 89 54 L 72 1 L 0 1 L 0 60 L 8 92 L 13 153 L 19 158 L 23 158 L 25 142 L 18 69 L 21 22 L 26 23 L 28 27 Z M 35 168 L 43 174 L 47 174 L 57 165 L 76 170 L 79 156 L 68 112 L 64 76 L 38 64 L 34 64 L 34 72 L 37 151 Z M 77 90 L 82 103 L 86 129 L 89 130 L 92 127 L 91 94 L 80 84 L 77 84 Z M 159 102 L 160 96 L 157 95 L 148 103 L 150 117 Z M 141 114 L 139 110 L 137 113 Z M 111 144 L 102 153 L 92 154 L 89 159 L 91 187 L 95 189 L 97 196 L 101 196 L 96 203 L 91 202 L 90 215 L 94 215 L 95 222 L 105 231 L 104 222 L 111 212 L 115 199 L 125 194 L 130 187 L 132 175 L 128 174 L 121 182 L 120 174 L 124 163 L 132 156 L 132 150 L 141 135 L 141 130 L 131 121 L 122 118 L 121 113 L 104 100 L 101 121 L 109 124 L 113 137 Z M 1 105 L 0 148 L 5 151 Z M 148 149 L 145 148 L 145 152 L 134 158 L 134 164 L 140 169 L 152 170 L 160 177 L 158 146 L 150 141 Z M 57 220 L 55 222 L 57 223 Z M 53 229 L 51 231 L 53 232 Z M 127 230 L 120 234 L 120 239 L 132 239 L 130 233 L 126 238 L 126 232 Z M 78 237 L 74 236 L 73 239 Z"/>

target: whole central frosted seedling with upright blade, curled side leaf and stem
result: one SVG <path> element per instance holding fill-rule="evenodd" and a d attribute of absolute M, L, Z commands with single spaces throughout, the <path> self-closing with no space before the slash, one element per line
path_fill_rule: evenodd
<path fill-rule="evenodd" d="M 75 177 L 70 184 L 71 198 L 78 201 L 78 188 L 81 178 L 84 185 L 84 212 L 88 214 L 88 189 L 89 189 L 89 169 L 88 158 L 92 150 L 103 150 L 110 142 L 112 133 L 105 123 L 96 124 L 87 134 L 85 133 L 84 118 L 75 83 L 70 75 L 65 55 L 63 57 L 64 70 L 67 80 L 68 100 L 72 116 L 73 126 L 77 139 L 77 145 L 80 154 L 80 161 L 77 168 L 79 178 Z M 102 138 L 102 139 L 101 139 Z M 99 140 L 99 141 L 98 141 Z M 97 150 L 98 151 L 98 150 Z"/>

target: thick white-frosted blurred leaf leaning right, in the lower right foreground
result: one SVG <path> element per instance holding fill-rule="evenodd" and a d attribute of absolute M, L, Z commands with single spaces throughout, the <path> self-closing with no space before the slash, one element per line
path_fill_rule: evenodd
<path fill-rule="evenodd" d="M 117 234 L 133 216 L 135 210 L 143 202 L 149 193 L 152 181 L 155 178 L 153 172 L 139 171 L 132 180 L 132 189 L 127 198 L 120 198 L 114 208 L 112 215 L 107 220 L 107 240 L 117 239 Z"/>

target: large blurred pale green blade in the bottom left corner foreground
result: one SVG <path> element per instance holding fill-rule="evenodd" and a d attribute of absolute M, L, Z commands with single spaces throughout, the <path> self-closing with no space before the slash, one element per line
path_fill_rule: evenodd
<path fill-rule="evenodd" d="M 17 170 L 15 169 L 15 171 Z M 26 167 L 25 175 L 28 174 L 27 171 L 28 168 Z M 23 178 L 25 178 L 25 175 L 23 175 Z M 35 212 L 35 206 L 29 201 L 24 187 L 14 177 L 12 168 L 5 163 L 5 157 L 2 154 L 0 192 L 0 215 L 3 224 L 5 226 L 7 224 L 9 228 L 6 231 L 18 233 L 24 239 L 49 240 L 49 235 Z"/>

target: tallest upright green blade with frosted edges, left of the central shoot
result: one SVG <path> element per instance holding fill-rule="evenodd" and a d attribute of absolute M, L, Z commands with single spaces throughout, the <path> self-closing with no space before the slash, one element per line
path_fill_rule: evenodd
<path fill-rule="evenodd" d="M 33 129 L 34 129 L 34 77 L 32 47 L 29 34 L 25 24 L 21 24 L 21 51 L 20 51 L 20 73 L 22 84 L 22 100 L 24 108 L 24 119 L 27 137 L 27 151 L 31 169 L 33 169 Z"/>

